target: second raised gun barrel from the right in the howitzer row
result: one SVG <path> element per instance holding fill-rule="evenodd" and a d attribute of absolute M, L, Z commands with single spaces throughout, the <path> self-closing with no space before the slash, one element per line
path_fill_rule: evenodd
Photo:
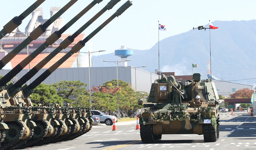
<path fill-rule="evenodd" d="M 116 3 L 118 3 L 120 0 L 111 0 L 101 11 L 99 11 L 94 17 L 92 17 L 87 23 L 85 23 L 81 28 L 79 28 L 73 35 L 67 37 L 64 41 L 60 43 L 60 46 L 58 46 L 54 51 L 52 51 L 46 58 L 44 58 L 41 62 L 39 62 L 36 66 L 34 66 L 29 72 L 27 72 L 20 80 L 18 80 L 12 87 L 9 87 L 9 92 L 11 95 L 15 95 L 16 92 L 14 91 L 16 88 L 21 87 L 23 84 L 26 83 L 29 79 L 31 79 L 40 69 L 42 69 L 52 58 L 55 57 L 62 49 L 66 49 L 67 46 L 69 46 L 73 40 L 81 34 L 88 26 L 90 26 L 91 23 L 93 23 L 99 16 L 101 16 L 104 12 L 106 12 L 109 9 L 112 9 Z M 23 61 L 22 61 L 23 62 Z M 26 65 L 23 65 L 25 67 Z M 7 78 L 7 77 L 6 77 Z M 3 81 L 6 82 L 6 81 Z M 0 84 L 3 85 L 3 84 Z M 17 90 L 16 90 L 17 91 Z"/>

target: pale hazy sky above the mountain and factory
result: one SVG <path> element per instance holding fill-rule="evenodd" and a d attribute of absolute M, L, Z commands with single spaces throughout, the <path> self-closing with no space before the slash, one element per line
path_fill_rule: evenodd
<path fill-rule="evenodd" d="M 20 15 L 36 0 L 0 0 L 1 21 L 0 28 L 13 17 Z M 50 7 L 61 8 L 70 0 L 46 0 L 41 6 L 44 11 L 44 19 L 49 19 Z M 67 23 L 93 0 L 78 0 L 62 18 Z M 96 4 L 79 21 L 77 21 L 65 34 L 73 34 L 84 23 L 90 20 L 110 0 L 103 0 Z M 113 9 L 105 12 L 98 20 L 89 26 L 84 33 L 89 35 L 107 20 L 127 0 L 121 0 Z M 133 5 L 122 15 L 116 17 L 81 50 L 87 52 L 106 50 L 106 52 L 94 53 L 101 55 L 112 53 L 121 45 L 132 49 L 150 49 L 158 41 L 158 21 L 167 26 L 167 32 L 160 31 L 160 40 L 187 32 L 192 27 L 206 25 L 211 20 L 214 26 L 215 20 L 253 20 L 256 18 L 256 0 L 133 0 Z M 29 15 L 19 26 L 22 32 L 31 19 Z"/>

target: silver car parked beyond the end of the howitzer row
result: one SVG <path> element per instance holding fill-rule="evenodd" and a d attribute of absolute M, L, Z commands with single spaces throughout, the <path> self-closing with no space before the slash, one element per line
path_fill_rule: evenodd
<path fill-rule="evenodd" d="M 101 124 L 106 124 L 106 125 L 110 126 L 113 124 L 114 118 L 115 118 L 116 122 L 118 121 L 116 116 L 106 115 L 105 113 L 102 113 L 99 110 L 91 110 L 91 112 L 93 112 L 94 117 L 99 117 L 99 121 Z"/>

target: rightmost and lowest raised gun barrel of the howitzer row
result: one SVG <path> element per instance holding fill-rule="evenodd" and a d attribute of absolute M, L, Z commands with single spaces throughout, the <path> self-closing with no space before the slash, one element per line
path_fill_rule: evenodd
<path fill-rule="evenodd" d="M 115 17 L 118 17 L 123 12 L 125 12 L 126 9 L 128 9 L 132 5 L 131 1 L 128 0 L 125 4 L 123 4 L 111 17 L 109 17 L 104 23 L 102 23 L 97 29 L 95 29 L 90 35 L 88 35 L 84 40 L 77 43 L 75 46 L 72 47 L 70 52 L 68 52 L 66 55 L 64 55 L 59 61 L 54 63 L 52 66 L 49 67 L 43 74 L 41 74 L 38 78 L 35 79 L 26 89 L 21 88 L 23 92 L 25 93 L 25 97 L 29 96 L 35 87 L 37 87 L 41 82 L 43 82 L 55 69 L 57 69 L 64 61 L 66 61 L 68 58 L 70 58 L 71 55 L 78 52 L 81 48 L 84 47 L 85 43 L 93 38 L 94 35 L 96 35 L 102 28 L 104 28 L 108 23 L 111 22 Z"/>

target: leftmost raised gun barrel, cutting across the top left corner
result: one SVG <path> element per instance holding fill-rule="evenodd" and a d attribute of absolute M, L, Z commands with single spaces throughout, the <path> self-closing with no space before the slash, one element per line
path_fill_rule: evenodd
<path fill-rule="evenodd" d="M 22 23 L 22 20 L 26 18 L 30 13 L 32 13 L 38 6 L 40 6 L 45 0 L 37 0 L 33 3 L 28 9 L 26 9 L 22 14 L 19 16 L 14 17 L 0 31 L 0 39 L 2 39 L 7 33 L 11 33 L 14 29 L 16 29 Z"/>

